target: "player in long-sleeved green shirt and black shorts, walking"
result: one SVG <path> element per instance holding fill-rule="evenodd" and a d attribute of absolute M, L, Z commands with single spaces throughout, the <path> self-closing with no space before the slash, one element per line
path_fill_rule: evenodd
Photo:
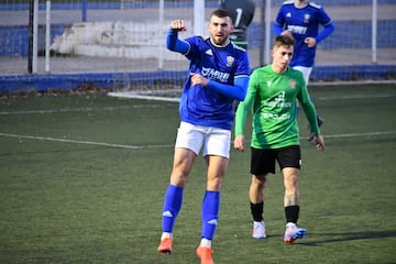
<path fill-rule="evenodd" d="M 276 36 L 272 50 L 273 63 L 255 69 L 250 78 L 246 98 L 238 107 L 235 116 L 234 147 L 244 151 L 244 124 L 252 111 L 250 202 L 255 239 L 266 238 L 263 218 L 264 185 L 268 174 L 275 174 L 275 162 L 284 177 L 284 207 L 286 231 L 284 241 L 293 243 L 301 239 L 306 230 L 297 227 L 299 216 L 298 177 L 301 166 L 297 100 L 304 109 L 315 134 L 318 150 L 324 148 L 323 138 L 317 123 L 317 113 L 309 99 L 302 74 L 289 67 L 294 53 L 293 36 Z"/>

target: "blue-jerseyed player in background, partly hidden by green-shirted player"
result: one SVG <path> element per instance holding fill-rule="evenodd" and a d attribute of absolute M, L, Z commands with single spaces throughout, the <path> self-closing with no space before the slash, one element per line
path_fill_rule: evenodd
<path fill-rule="evenodd" d="M 320 25 L 323 29 L 319 32 Z M 294 36 L 296 44 L 290 67 L 302 73 L 308 86 L 315 65 L 317 45 L 334 31 L 331 18 L 321 6 L 314 2 L 288 0 L 282 4 L 273 29 L 276 35 Z M 319 127 L 322 123 L 323 119 L 318 116 Z M 308 141 L 314 139 L 312 131 L 309 131 Z"/>

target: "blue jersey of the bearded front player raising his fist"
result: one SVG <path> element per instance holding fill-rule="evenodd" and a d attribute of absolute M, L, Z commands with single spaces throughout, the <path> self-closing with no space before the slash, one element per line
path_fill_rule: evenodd
<path fill-rule="evenodd" d="M 201 36 L 191 36 L 185 42 L 189 45 L 185 56 L 190 61 L 190 73 L 230 86 L 234 85 L 234 78 L 249 77 L 248 54 L 235 44 L 229 42 L 228 45 L 216 46 L 209 37 Z M 197 125 L 231 130 L 234 99 L 209 87 L 191 86 L 188 78 L 180 99 L 180 120 Z"/>

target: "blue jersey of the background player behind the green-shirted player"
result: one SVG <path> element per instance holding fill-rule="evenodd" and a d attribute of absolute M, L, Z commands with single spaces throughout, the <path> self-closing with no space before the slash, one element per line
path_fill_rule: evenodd
<path fill-rule="evenodd" d="M 317 45 L 308 47 L 304 40 L 308 36 L 316 37 L 319 43 L 333 31 L 332 21 L 321 6 L 308 2 L 304 8 L 296 8 L 294 3 L 294 0 L 289 0 L 282 4 L 274 29 L 277 34 L 280 34 L 282 30 L 288 30 L 296 40 L 292 67 L 314 67 Z M 318 35 L 320 25 L 328 30 Z M 277 32 L 277 29 L 280 32 Z"/>

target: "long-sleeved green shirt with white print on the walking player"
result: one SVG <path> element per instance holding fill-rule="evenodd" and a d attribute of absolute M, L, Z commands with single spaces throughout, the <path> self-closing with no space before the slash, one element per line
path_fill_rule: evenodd
<path fill-rule="evenodd" d="M 267 150 L 298 145 L 296 99 L 315 135 L 319 135 L 316 109 L 302 74 L 290 67 L 277 74 L 271 65 L 255 69 L 250 77 L 246 98 L 237 110 L 235 135 L 243 134 L 246 116 L 251 110 L 252 147 Z"/>

